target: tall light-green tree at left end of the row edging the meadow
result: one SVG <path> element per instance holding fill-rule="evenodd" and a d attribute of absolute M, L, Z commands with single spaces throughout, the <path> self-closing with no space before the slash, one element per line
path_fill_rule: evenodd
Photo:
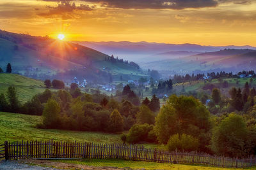
<path fill-rule="evenodd" d="M 47 129 L 57 128 L 60 125 L 60 105 L 54 99 L 49 99 L 45 104 L 43 125 Z"/>

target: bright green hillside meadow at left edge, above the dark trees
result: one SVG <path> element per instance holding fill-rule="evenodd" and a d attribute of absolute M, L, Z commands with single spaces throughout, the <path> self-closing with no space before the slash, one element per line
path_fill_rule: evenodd
<path fill-rule="evenodd" d="M 14 86 L 21 103 L 29 101 L 31 97 L 45 90 L 44 82 L 20 76 L 19 74 L 0 74 L 0 93 L 6 94 L 8 87 Z"/>

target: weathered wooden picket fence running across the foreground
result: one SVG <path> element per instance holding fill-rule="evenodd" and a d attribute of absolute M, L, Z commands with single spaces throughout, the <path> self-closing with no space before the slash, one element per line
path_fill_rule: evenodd
<path fill-rule="evenodd" d="M 4 147 L 3 147 L 4 146 Z M 7 160 L 27 158 L 87 158 L 87 159 L 125 159 L 175 164 L 202 164 L 216 167 L 252 167 L 256 157 L 237 159 L 217 157 L 205 153 L 166 152 L 136 145 L 97 144 L 58 141 L 5 142 L 1 157 Z M 4 156 L 3 156 L 4 155 Z"/>

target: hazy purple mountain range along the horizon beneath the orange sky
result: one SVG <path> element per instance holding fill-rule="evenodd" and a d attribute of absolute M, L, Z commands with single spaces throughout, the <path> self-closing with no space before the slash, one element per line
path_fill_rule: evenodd
<path fill-rule="evenodd" d="M 170 58 L 173 57 L 171 52 L 214 52 L 218 50 L 224 50 L 225 48 L 232 49 L 253 49 L 256 50 L 254 46 L 202 46 L 195 44 L 167 44 L 167 43 L 148 43 L 145 41 L 141 42 L 129 42 L 129 41 L 108 41 L 108 42 L 92 42 L 92 41 L 76 41 L 79 45 L 88 46 L 100 52 L 108 53 L 109 55 L 117 55 L 129 60 L 134 60 L 136 62 L 144 62 L 150 60 L 156 60 L 157 53 L 168 53 L 170 52 Z M 175 55 L 177 57 L 177 55 Z M 187 56 L 187 55 L 185 55 Z M 180 55 L 184 57 L 184 55 Z"/>

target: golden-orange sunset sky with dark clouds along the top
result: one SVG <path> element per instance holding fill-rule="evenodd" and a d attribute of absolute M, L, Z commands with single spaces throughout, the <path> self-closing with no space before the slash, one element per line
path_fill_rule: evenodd
<path fill-rule="evenodd" d="M 255 0 L 0 0 L 0 29 L 67 41 L 256 46 Z"/>

